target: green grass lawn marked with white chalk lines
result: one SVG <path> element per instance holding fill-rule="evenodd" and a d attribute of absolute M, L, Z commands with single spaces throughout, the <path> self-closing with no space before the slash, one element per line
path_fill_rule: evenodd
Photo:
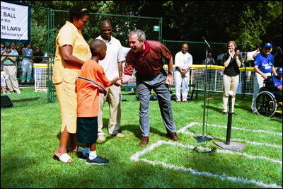
<path fill-rule="evenodd" d="M 209 101 L 207 108 L 207 134 L 225 138 L 226 128 L 213 126 L 227 125 L 227 116 L 221 115 L 221 93 L 211 93 L 209 96 L 215 99 Z M 225 139 L 198 143 L 194 135 L 179 133 L 182 140 L 173 142 L 165 137 L 158 102 L 151 101 L 150 142 L 143 148 L 139 147 L 139 102 L 135 96 L 127 94 L 122 99 L 127 100 L 122 101 L 121 122 L 121 131 L 126 137 L 120 139 L 106 134 L 107 140 L 98 144 L 98 155 L 110 159 L 110 164 L 105 166 L 88 165 L 80 161 L 76 153 L 69 153 L 75 161 L 72 164 L 52 159 L 59 145 L 61 124 L 57 103 L 1 109 L 1 188 L 265 188 L 253 183 L 229 181 L 224 176 L 282 186 L 282 135 L 232 130 L 231 138 L 242 139 L 241 143 L 246 144 L 246 148 L 243 151 L 226 150 L 231 154 L 220 153 L 224 149 L 213 143 L 225 142 Z M 198 100 L 190 103 L 171 102 L 177 130 L 199 122 L 199 125 L 192 125 L 186 131 L 202 134 L 202 92 Z M 235 112 L 238 115 L 233 116 L 232 127 L 282 134 L 280 115 L 266 118 L 250 113 L 250 102 L 251 96 L 246 96 L 245 100 L 241 95 L 236 96 Z M 107 125 L 108 105 L 105 105 L 104 113 L 103 122 Z M 107 132 L 105 128 L 103 130 Z M 183 146 L 162 144 L 139 156 L 139 159 L 146 161 L 131 159 L 134 154 L 158 141 Z M 202 154 L 185 145 L 215 147 L 216 151 Z M 281 161 L 281 164 L 242 154 L 264 156 Z M 151 164 L 151 161 L 156 164 Z M 163 164 L 183 169 L 168 168 Z M 185 171 L 189 168 L 197 173 L 213 173 L 216 176 Z"/>

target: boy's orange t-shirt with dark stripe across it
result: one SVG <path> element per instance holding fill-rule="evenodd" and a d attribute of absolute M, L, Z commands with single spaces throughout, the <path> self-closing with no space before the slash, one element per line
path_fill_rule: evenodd
<path fill-rule="evenodd" d="M 88 59 L 76 79 L 76 98 L 78 100 L 78 117 L 97 117 L 99 108 L 99 91 L 111 85 L 103 68 L 94 60 Z"/>

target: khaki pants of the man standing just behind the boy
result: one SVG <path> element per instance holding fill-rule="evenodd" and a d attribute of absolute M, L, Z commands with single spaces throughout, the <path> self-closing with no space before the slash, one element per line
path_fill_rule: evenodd
<path fill-rule="evenodd" d="M 106 88 L 107 94 L 99 95 L 99 110 L 98 110 L 98 136 L 103 135 L 103 106 L 107 101 L 109 104 L 110 118 L 108 122 L 108 134 L 117 134 L 120 129 L 121 122 L 121 106 L 120 95 L 121 87 L 112 85 Z"/>

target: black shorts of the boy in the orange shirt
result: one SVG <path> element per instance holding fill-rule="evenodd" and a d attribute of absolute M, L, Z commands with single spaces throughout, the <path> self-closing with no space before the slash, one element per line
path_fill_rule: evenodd
<path fill-rule="evenodd" d="M 96 143 L 98 137 L 98 117 L 76 119 L 76 140 L 81 143 Z"/>

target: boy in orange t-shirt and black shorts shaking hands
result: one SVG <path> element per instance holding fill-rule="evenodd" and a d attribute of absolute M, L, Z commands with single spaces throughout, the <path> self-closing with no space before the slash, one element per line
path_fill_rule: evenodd
<path fill-rule="evenodd" d="M 77 91 L 77 128 L 76 139 L 86 143 L 90 149 L 86 164 L 108 164 L 109 160 L 96 155 L 96 140 L 98 137 L 98 106 L 99 93 L 105 93 L 105 87 L 115 84 L 120 86 L 121 80 L 115 77 L 109 81 L 103 68 L 98 64 L 104 59 L 107 47 L 102 40 L 93 40 L 90 45 L 91 59 L 88 59 L 81 67 L 81 72 L 76 79 Z"/>

